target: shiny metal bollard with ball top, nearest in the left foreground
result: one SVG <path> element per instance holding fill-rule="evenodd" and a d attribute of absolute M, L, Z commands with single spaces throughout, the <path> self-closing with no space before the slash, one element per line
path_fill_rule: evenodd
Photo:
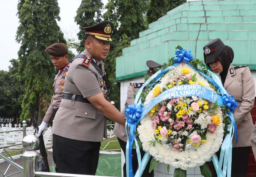
<path fill-rule="evenodd" d="M 39 154 L 36 148 L 39 145 L 38 137 L 35 135 L 27 135 L 22 140 L 23 149 L 25 152 L 23 157 L 23 177 L 35 177 L 36 162 Z"/>

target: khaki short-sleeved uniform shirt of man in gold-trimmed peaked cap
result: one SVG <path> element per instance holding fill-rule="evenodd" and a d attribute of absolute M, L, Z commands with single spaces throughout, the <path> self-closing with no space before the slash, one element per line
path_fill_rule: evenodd
<path fill-rule="evenodd" d="M 85 49 L 81 54 L 92 56 Z M 84 58 L 76 58 L 70 65 L 64 93 L 73 94 L 71 100 L 62 99 L 52 126 L 52 133 L 69 139 L 99 142 L 107 138 L 106 117 L 92 104 L 75 101 L 76 95 L 84 98 L 101 92 L 108 94 L 99 72 L 90 63 L 82 65 Z M 97 62 L 97 65 L 104 63 Z"/>

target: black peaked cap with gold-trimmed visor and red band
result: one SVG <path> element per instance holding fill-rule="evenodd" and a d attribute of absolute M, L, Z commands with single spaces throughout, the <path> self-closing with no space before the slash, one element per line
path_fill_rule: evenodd
<path fill-rule="evenodd" d="M 85 34 L 90 34 L 97 39 L 112 41 L 111 32 L 114 29 L 114 25 L 110 21 L 103 21 L 97 25 L 82 27 L 81 29 L 85 30 Z"/>

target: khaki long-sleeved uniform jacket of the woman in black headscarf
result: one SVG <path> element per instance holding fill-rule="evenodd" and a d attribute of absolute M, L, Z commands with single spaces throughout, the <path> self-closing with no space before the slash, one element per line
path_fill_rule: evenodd
<path fill-rule="evenodd" d="M 234 147 L 251 146 L 251 135 L 253 129 L 252 110 L 255 98 L 254 81 L 248 67 L 234 68 L 230 64 L 228 74 L 224 83 L 226 91 L 235 97 L 238 102 L 233 116 L 238 131 L 238 142 Z M 233 137 L 233 145 L 236 139 Z"/>

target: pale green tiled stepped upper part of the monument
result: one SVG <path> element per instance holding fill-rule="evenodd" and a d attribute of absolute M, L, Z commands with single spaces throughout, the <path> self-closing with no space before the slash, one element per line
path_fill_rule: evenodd
<path fill-rule="evenodd" d="M 182 4 L 140 32 L 116 58 L 116 80 L 147 73 L 147 60 L 167 62 L 180 45 L 203 60 L 203 46 L 220 38 L 233 48 L 234 65 L 256 70 L 256 0 L 203 0 Z"/>

